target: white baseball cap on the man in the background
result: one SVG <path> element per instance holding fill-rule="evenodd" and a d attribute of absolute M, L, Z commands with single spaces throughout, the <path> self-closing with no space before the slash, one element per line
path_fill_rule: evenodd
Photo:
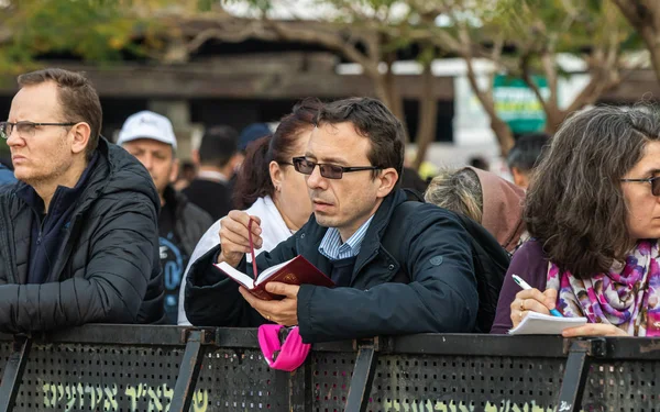
<path fill-rule="evenodd" d="M 132 114 L 121 126 L 117 144 L 119 146 L 138 138 L 153 138 L 167 143 L 176 151 L 176 136 L 169 119 L 144 110 Z"/>

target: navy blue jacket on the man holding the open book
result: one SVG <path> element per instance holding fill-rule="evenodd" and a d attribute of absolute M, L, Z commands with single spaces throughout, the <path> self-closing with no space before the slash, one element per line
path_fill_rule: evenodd
<path fill-rule="evenodd" d="M 479 297 L 469 234 L 457 216 L 433 204 L 421 204 L 405 219 L 400 238 L 405 261 L 396 261 L 382 244 L 394 209 L 406 201 L 403 191 L 385 198 L 369 226 L 350 287 L 302 285 L 298 292 L 298 325 L 307 343 L 425 332 L 460 333 L 474 329 Z M 294 236 L 256 258 L 264 269 L 298 254 L 324 274 L 330 260 L 318 253 L 327 227 L 314 215 Z M 238 285 L 212 266 L 220 246 L 190 268 L 185 309 L 194 325 L 258 326 L 267 321 L 252 309 Z M 244 267 L 243 259 L 240 269 Z M 245 270 L 243 270 L 245 271 Z"/>

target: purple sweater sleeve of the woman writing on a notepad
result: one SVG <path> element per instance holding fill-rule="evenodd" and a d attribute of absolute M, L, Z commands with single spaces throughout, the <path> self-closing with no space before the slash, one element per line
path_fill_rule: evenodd
<path fill-rule="evenodd" d="M 528 241 L 514 254 L 499 292 L 497 312 L 495 312 L 495 321 L 491 329 L 491 333 L 494 334 L 506 334 L 513 327 L 510 305 L 516 299 L 516 293 L 520 291 L 520 287 L 514 281 L 512 275 L 518 275 L 532 288 L 540 291 L 546 290 L 548 259 L 540 242 Z"/>

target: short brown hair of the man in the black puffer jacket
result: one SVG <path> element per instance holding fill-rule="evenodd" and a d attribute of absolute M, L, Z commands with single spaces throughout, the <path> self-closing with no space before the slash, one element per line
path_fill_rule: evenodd
<path fill-rule="evenodd" d="M 88 159 L 91 158 L 94 151 L 99 145 L 103 120 L 101 102 L 91 81 L 80 73 L 61 68 L 26 73 L 18 78 L 20 87 L 41 85 L 46 81 L 53 81 L 57 85 L 57 97 L 64 115 L 63 121 L 89 124 L 90 135 L 86 154 Z"/>

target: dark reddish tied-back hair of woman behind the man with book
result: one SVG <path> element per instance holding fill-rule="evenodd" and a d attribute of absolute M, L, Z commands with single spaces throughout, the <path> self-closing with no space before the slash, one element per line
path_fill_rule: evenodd
<path fill-rule="evenodd" d="M 296 140 L 305 130 L 315 125 L 322 103 L 307 98 L 294 107 L 290 114 L 279 121 L 272 136 L 261 137 L 248 145 L 245 159 L 237 177 L 233 192 L 234 205 L 246 209 L 258 198 L 273 196 L 275 187 L 271 180 L 271 162 L 292 163 Z"/>

